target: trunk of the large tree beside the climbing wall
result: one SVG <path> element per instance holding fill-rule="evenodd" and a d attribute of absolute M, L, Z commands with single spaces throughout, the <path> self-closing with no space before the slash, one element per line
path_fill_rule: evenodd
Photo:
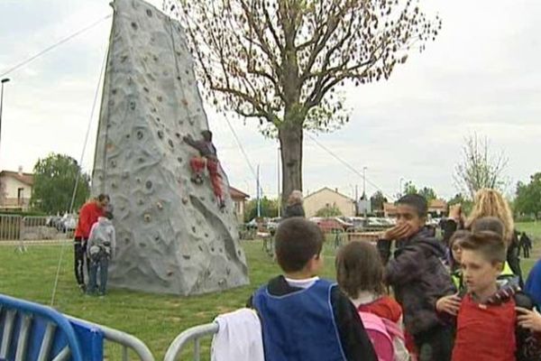
<path fill-rule="evenodd" d="M 282 208 L 293 190 L 302 191 L 303 129 L 300 122 L 285 122 L 278 131 L 282 162 Z"/>

